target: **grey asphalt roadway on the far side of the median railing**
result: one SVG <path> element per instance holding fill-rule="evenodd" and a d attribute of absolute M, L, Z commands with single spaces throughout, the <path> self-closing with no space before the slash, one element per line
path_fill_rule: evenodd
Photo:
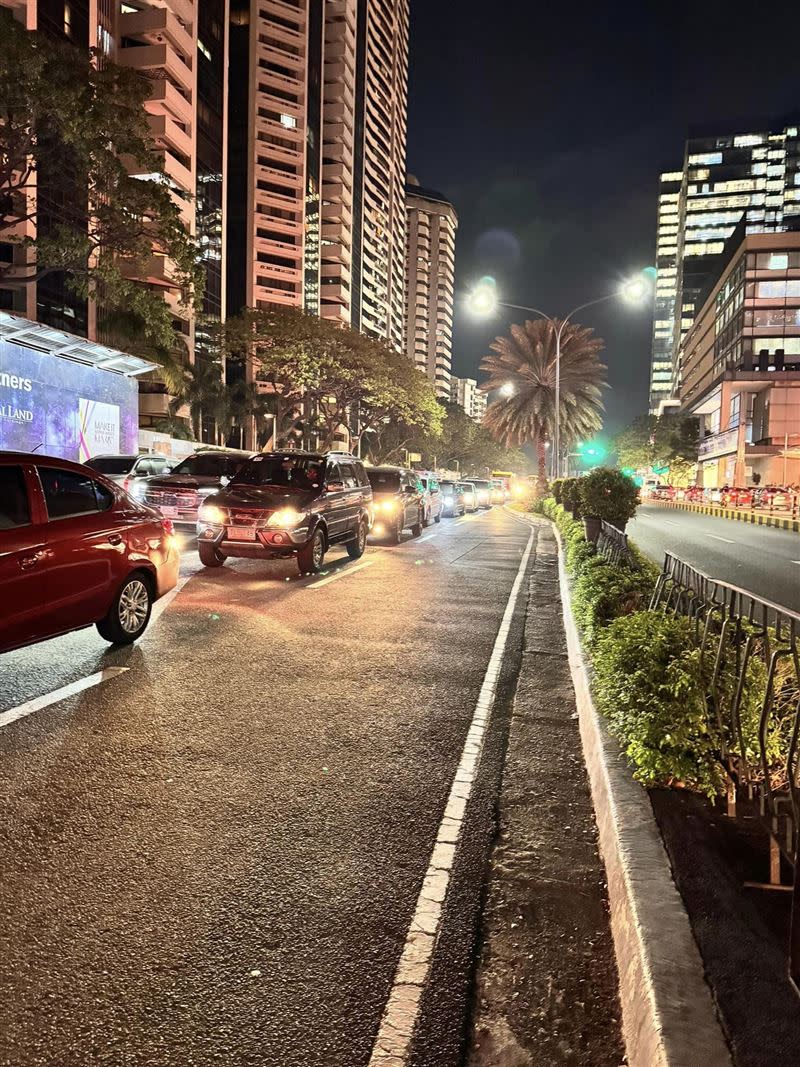
<path fill-rule="evenodd" d="M 670 552 L 710 577 L 800 611 L 800 535 L 657 504 L 642 505 L 627 532 L 657 563 Z"/>

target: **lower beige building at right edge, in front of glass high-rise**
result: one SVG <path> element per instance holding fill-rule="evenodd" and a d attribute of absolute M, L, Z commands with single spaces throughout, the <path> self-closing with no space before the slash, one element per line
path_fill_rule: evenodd
<path fill-rule="evenodd" d="M 745 234 L 684 337 L 681 410 L 700 483 L 800 483 L 800 232 Z"/>

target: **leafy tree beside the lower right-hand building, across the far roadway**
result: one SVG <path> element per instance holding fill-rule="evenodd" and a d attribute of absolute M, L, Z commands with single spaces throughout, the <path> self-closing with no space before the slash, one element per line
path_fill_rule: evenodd
<path fill-rule="evenodd" d="M 688 415 L 640 415 L 614 440 L 620 466 L 669 467 L 673 484 L 688 483 L 698 460 L 698 420 Z"/>

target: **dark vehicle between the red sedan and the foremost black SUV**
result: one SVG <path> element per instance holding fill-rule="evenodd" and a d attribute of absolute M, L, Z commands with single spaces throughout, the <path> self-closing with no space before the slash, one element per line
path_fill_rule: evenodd
<path fill-rule="evenodd" d="M 194 525 L 204 499 L 226 485 L 239 467 L 257 455 L 238 448 L 198 448 L 171 474 L 139 479 L 131 492 L 138 500 L 158 508 L 165 519 Z"/>

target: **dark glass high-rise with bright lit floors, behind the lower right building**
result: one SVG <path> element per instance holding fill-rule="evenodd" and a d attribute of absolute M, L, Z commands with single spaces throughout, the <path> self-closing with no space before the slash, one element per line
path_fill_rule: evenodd
<path fill-rule="evenodd" d="M 671 380 L 698 297 L 725 241 L 742 216 L 749 234 L 800 228 L 798 180 L 797 126 L 687 141 L 683 170 L 661 176 L 653 411 L 669 397 L 668 371 Z"/>

